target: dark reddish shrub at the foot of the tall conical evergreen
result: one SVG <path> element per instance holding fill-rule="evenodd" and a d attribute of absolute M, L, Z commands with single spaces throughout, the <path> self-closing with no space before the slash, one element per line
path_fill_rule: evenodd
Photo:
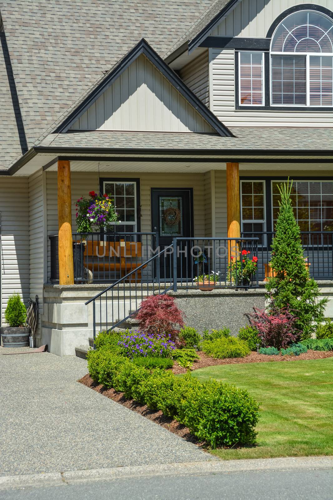
<path fill-rule="evenodd" d="M 253 310 L 245 315 L 251 326 L 257 328 L 263 346 L 281 349 L 298 340 L 300 331 L 295 324 L 298 318 L 290 312 L 289 307 L 279 308 L 271 300 L 269 313 L 258 307 L 253 307 Z"/>

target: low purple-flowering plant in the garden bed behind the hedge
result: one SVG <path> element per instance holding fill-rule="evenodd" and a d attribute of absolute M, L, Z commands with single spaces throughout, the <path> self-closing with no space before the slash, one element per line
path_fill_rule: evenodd
<path fill-rule="evenodd" d="M 121 354 L 127 357 L 171 357 L 176 348 L 171 334 L 153 335 L 139 330 L 126 330 L 120 337 L 118 345 Z"/>

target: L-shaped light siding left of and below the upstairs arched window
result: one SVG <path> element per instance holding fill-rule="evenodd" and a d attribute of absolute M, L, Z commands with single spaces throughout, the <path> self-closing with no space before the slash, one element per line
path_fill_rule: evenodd
<path fill-rule="evenodd" d="M 235 109 L 235 52 L 210 48 L 211 110 L 226 126 L 332 126 L 332 111 Z"/>

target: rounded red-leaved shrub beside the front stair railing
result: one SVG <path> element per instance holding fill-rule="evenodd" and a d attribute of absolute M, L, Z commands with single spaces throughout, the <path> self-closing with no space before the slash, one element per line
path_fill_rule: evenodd
<path fill-rule="evenodd" d="M 184 326 L 183 313 L 170 295 L 151 295 L 142 300 L 136 318 L 141 330 L 153 335 L 170 334 L 173 341 Z"/>

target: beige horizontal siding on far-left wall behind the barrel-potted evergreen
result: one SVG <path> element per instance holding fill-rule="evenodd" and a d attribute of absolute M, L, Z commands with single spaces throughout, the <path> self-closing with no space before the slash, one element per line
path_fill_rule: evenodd
<path fill-rule="evenodd" d="M 8 296 L 29 297 L 28 179 L 1 177 L 0 193 L 1 323 Z"/>

